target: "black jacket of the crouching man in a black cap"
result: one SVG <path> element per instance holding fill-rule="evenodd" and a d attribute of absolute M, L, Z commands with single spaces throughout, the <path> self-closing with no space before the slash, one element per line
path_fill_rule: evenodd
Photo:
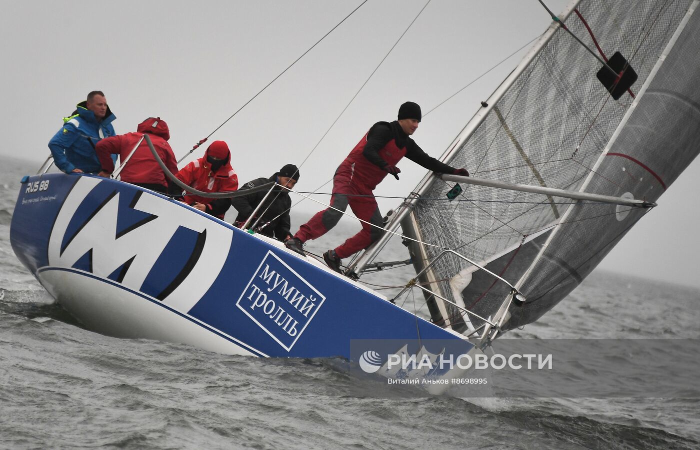
<path fill-rule="evenodd" d="M 275 173 L 269 178 L 257 178 L 251 182 L 247 182 L 241 186 L 238 190 L 244 191 L 245 189 L 251 189 L 251 187 L 260 186 L 262 184 L 267 184 L 269 182 L 275 182 L 277 180 L 277 174 Z M 231 198 L 231 205 L 238 211 L 236 217 L 235 225 L 241 226 L 246 219 L 253 214 L 253 210 L 257 207 L 262 198 L 265 197 L 267 191 L 253 192 L 253 194 L 248 194 L 245 196 L 238 196 Z M 251 220 L 248 226 L 252 226 L 257 217 L 261 217 L 258 221 L 258 227 L 262 227 L 259 233 L 262 233 L 270 238 L 275 238 L 277 240 L 284 240 L 288 235 L 290 235 L 290 218 L 289 210 L 292 207 L 292 199 L 289 197 L 289 191 L 282 189 L 279 186 L 274 187 L 272 192 L 265 199 L 265 203 L 258 209 L 256 217 Z M 269 224 L 267 224 L 269 222 Z"/>

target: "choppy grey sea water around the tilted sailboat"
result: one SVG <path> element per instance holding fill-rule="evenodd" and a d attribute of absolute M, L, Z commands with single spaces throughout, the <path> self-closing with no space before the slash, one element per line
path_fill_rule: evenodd
<path fill-rule="evenodd" d="M 86 331 L 10 247 L 19 180 L 37 165 L 0 163 L 0 448 L 700 448 L 700 400 L 688 395 L 407 397 L 332 359 L 228 356 Z M 311 250 L 357 227 L 350 222 Z M 390 252 L 405 257 L 400 244 Z M 409 273 L 385 270 L 366 281 L 396 286 Z M 507 336 L 698 339 L 699 300 L 697 289 L 596 271 Z"/>

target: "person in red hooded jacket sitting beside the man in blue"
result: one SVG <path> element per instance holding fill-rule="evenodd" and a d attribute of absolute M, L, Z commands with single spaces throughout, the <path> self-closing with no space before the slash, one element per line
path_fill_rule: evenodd
<path fill-rule="evenodd" d="M 100 140 L 95 145 L 94 151 L 102 166 L 99 175 L 109 177 L 114 170 L 114 162 L 111 154 L 118 154 L 120 161 L 126 161 L 132 150 L 136 147 L 139 139 L 148 133 L 158 156 L 165 163 L 165 166 L 173 174 L 177 173 L 177 161 L 167 140 L 170 138 L 170 131 L 165 120 L 160 117 L 148 119 L 141 122 L 136 133 L 126 133 L 118 136 L 111 136 Z M 163 170 L 155 161 L 151 149 L 148 148 L 146 140 L 141 140 L 139 147 L 131 155 L 129 161 L 119 173 L 123 182 L 136 184 L 137 186 L 151 189 L 152 191 L 167 193 L 170 179 L 165 176 Z"/>

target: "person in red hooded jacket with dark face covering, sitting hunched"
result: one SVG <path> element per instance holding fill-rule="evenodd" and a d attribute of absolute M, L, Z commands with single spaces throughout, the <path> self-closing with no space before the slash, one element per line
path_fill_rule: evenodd
<path fill-rule="evenodd" d="M 223 140 L 215 140 L 204 152 L 204 156 L 183 167 L 177 173 L 177 178 L 198 191 L 235 191 L 238 189 L 238 175 L 233 171 L 230 161 L 228 145 Z M 223 219 L 231 205 L 230 198 L 202 197 L 189 193 L 185 194 L 183 201 L 219 219 Z"/>

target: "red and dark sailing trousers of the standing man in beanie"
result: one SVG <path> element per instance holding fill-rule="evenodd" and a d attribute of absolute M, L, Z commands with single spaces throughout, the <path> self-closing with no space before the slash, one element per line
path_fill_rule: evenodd
<path fill-rule="evenodd" d="M 335 253 L 340 259 L 347 258 L 365 249 L 384 234 L 383 220 L 377 200 L 372 195 L 372 189 L 365 184 L 353 181 L 355 164 L 343 161 L 333 177 L 333 195 L 330 198 L 331 208 L 319 211 L 311 217 L 311 220 L 303 224 L 294 235 L 302 242 L 309 239 L 320 238 L 331 228 L 337 225 L 348 205 L 354 215 L 372 226 L 362 222 L 362 230 L 335 248 Z M 334 209 L 335 208 L 335 209 Z M 379 228 L 377 228 L 379 227 Z"/>

